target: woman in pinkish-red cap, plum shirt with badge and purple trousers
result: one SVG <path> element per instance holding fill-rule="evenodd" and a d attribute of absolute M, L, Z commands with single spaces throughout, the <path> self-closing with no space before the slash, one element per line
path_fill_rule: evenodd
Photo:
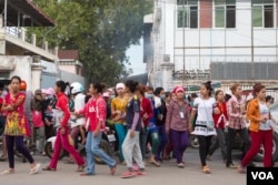
<path fill-rule="evenodd" d="M 166 132 L 173 144 L 178 167 L 183 168 L 183 153 L 188 146 L 189 134 L 189 104 L 185 101 L 185 89 L 177 86 L 173 90 L 176 99 L 170 102 L 166 116 Z"/>

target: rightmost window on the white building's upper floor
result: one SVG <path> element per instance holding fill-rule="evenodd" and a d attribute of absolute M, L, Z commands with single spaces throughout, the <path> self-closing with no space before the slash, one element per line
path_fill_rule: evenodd
<path fill-rule="evenodd" d="M 252 27 L 274 28 L 274 0 L 252 0 Z"/>

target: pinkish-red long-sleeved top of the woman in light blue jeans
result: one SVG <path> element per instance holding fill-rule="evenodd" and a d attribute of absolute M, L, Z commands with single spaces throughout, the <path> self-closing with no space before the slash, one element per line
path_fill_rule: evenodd
<path fill-rule="evenodd" d="M 91 97 L 78 113 L 86 116 L 86 126 L 88 131 L 95 132 L 99 122 L 102 122 L 100 131 L 105 130 L 107 104 L 102 96 L 98 96 L 97 99 Z"/>

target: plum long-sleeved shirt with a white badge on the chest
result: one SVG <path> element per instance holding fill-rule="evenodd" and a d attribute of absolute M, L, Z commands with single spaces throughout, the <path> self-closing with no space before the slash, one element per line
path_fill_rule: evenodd
<path fill-rule="evenodd" d="M 175 131 L 187 131 L 189 126 L 189 104 L 183 102 L 180 106 L 177 101 L 172 101 L 167 110 L 166 129 Z"/>

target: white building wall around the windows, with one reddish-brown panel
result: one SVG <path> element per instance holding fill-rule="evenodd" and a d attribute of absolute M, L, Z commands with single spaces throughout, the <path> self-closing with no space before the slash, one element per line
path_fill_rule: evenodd
<path fill-rule="evenodd" d="M 153 20 L 153 85 L 165 79 L 160 64 L 169 55 L 175 71 L 208 70 L 210 62 L 277 62 L 278 2 L 274 2 L 274 28 L 251 27 L 251 0 L 236 1 L 236 28 L 216 28 L 215 1 L 198 1 L 198 28 L 178 28 L 176 0 L 155 1 L 155 16 L 161 9 L 161 20 Z M 252 59 L 254 50 L 254 59 Z M 150 64 L 148 64 L 149 66 Z M 176 83 L 176 82 L 173 82 Z M 178 82 L 177 82 L 178 83 Z"/>

